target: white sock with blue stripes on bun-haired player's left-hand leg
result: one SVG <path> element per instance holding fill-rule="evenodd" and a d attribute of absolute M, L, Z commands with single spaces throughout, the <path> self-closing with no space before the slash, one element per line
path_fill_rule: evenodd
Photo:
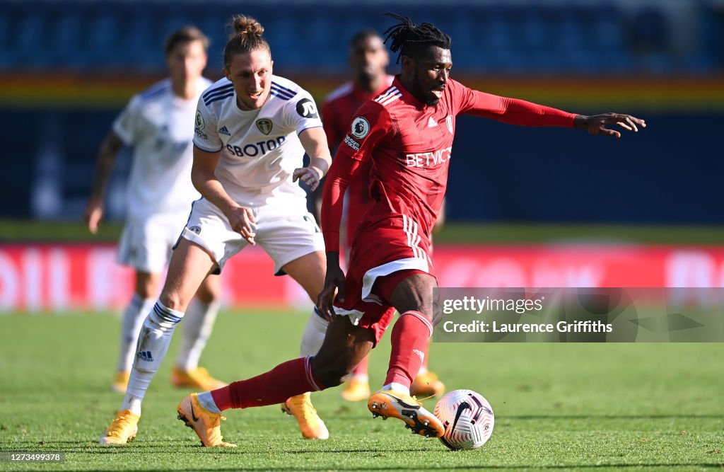
<path fill-rule="evenodd" d="M 148 384 L 151 384 L 151 378 L 159 370 L 161 361 L 169 350 L 174 328 L 183 315 L 183 312 L 164 307 L 160 301 L 153 305 L 153 310 L 140 329 L 136 357 L 121 410 L 131 410 L 140 415 L 140 401 L 148 390 Z M 136 403 L 138 405 L 135 405 Z M 138 411 L 134 411 L 134 408 Z"/>

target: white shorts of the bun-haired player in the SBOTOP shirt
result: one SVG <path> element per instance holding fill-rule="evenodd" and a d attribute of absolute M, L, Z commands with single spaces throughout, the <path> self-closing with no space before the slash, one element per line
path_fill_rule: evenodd
<path fill-rule="evenodd" d="M 324 251 L 324 239 L 314 217 L 306 210 L 304 201 L 293 205 L 264 205 L 251 209 L 256 224 L 254 241 L 274 261 L 274 273 L 282 267 L 312 252 Z M 181 237 L 193 241 L 214 256 L 219 271 L 230 257 L 240 252 L 248 241 L 233 231 L 229 220 L 216 205 L 206 199 L 193 202 L 188 223 Z"/>

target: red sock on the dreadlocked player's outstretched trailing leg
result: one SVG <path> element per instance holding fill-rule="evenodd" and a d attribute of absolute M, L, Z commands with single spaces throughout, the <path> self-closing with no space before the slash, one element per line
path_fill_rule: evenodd
<path fill-rule="evenodd" d="M 211 391 L 219 410 L 261 407 L 283 403 L 287 398 L 306 392 L 324 390 L 311 369 L 311 356 L 289 360 L 277 367 L 247 380 L 232 382 Z"/>

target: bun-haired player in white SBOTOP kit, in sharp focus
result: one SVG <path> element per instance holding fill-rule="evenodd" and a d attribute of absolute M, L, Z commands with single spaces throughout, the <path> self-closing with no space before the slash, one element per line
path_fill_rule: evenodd
<path fill-rule="evenodd" d="M 316 189 L 329 168 L 319 114 L 308 92 L 272 75 L 264 28 L 243 15 L 232 24 L 235 33 L 224 48 L 226 77 L 201 95 L 196 111 L 191 178 L 202 198 L 193 204 L 159 301 L 143 324 L 137 350 L 148 358 L 136 358 L 125 400 L 101 436 L 103 444 L 125 444 L 135 437 L 143 395 L 174 326 L 203 279 L 222 270 L 234 254 L 258 244 L 274 260 L 275 273 L 294 278 L 312 301 L 324 286 L 324 240 L 296 183 Z M 303 356 L 316 354 L 326 328 L 327 320 L 315 307 L 303 335 Z M 195 407 L 203 408 L 198 402 Z M 282 409 L 295 416 L 305 438 L 329 437 L 308 393 L 287 399 Z M 218 425 L 207 426 L 218 431 Z M 203 442 L 233 446 L 220 437 Z"/>

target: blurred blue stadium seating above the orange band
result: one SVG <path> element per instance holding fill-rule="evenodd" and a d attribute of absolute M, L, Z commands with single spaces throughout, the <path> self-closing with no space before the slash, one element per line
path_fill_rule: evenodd
<path fill-rule="evenodd" d="M 193 23 L 216 51 L 231 15 L 267 28 L 275 59 L 292 70 L 345 70 L 340 38 L 392 22 L 393 10 L 454 33 L 455 67 L 471 72 L 710 73 L 723 66 L 721 12 L 708 1 L 479 1 L 345 5 L 343 2 L 21 0 L 0 2 L 0 72 L 52 68 L 162 73 L 159 46 Z M 693 36 L 692 36 L 693 35 Z M 300 44 L 304 46 L 290 47 Z M 275 47 L 277 46 L 277 47 Z M 211 67 L 221 69 L 221 54 Z"/>

